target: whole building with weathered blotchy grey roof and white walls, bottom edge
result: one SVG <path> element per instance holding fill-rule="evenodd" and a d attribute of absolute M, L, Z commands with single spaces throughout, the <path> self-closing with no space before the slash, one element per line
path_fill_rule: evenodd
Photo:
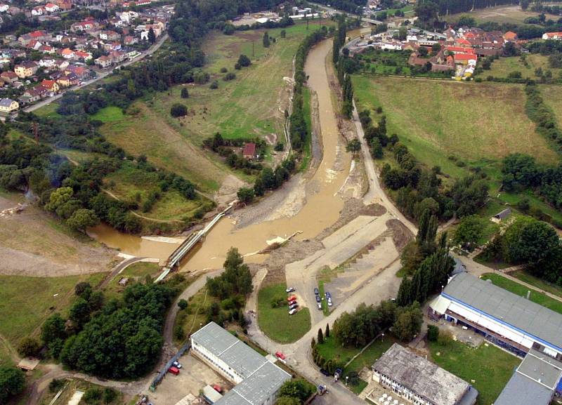
<path fill-rule="evenodd" d="M 473 405 L 466 381 L 394 343 L 372 366 L 373 380 L 416 405 Z"/>

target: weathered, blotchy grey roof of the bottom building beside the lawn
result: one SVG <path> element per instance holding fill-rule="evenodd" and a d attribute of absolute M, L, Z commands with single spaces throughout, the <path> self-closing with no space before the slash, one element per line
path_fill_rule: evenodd
<path fill-rule="evenodd" d="M 471 387 L 398 343 L 386 350 L 373 364 L 373 369 L 439 405 L 456 405 Z"/>

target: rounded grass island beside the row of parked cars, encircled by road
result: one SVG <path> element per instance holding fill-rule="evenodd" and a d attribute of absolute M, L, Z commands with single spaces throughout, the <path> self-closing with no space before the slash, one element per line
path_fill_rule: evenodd
<path fill-rule="evenodd" d="M 259 327 L 266 335 L 278 343 L 293 343 L 311 328 L 311 313 L 308 308 L 289 315 L 288 307 L 271 307 L 274 298 L 287 298 L 285 284 L 264 286 L 258 293 Z"/>

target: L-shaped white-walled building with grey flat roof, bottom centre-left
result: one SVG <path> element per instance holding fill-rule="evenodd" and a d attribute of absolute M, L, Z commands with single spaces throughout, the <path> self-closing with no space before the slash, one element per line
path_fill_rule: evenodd
<path fill-rule="evenodd" d="M 217 405 L 273 405 L 291 375 L 214 322 L 191 336 L 192 354 L 235 384 Z"/>

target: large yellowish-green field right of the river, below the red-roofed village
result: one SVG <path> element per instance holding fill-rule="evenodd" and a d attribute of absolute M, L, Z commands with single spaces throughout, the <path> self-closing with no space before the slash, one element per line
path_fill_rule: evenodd
<path fill-rule="evenodd" d="M 499 176 L 499 160 L 513 152 L 543 163 L 558 161 L 525 114 L 521 86 L 365 76 L 353 77 L 353 84 L 358 108 L 383 107 L 388 134 L 398 134 L 429 168 L 437 165 L 454 177 L 466 175 L 460 160 L 484 168 L 493 178 Z"/>

